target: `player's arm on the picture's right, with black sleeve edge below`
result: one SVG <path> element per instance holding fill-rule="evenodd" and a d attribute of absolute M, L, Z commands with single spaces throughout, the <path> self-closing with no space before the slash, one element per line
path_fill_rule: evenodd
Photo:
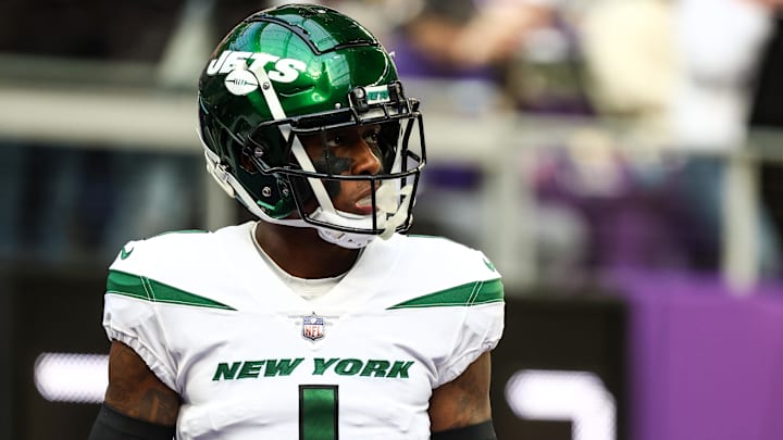
<path fill-rule="evenodd" d="M 433 440 L 495 440 L 489 405 L 489 352 L 455 380 L 433 390 L 430 424 Z"/>

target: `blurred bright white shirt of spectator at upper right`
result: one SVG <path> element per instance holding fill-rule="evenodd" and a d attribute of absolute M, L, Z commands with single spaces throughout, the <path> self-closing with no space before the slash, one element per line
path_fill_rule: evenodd
<path fill-rule="evenodd" d="M 751 79 L 771 30 L 769 12 L 755 0 L 678 0 L 674 14 L 674 142 L 708 152 L 744 147 Z"/>

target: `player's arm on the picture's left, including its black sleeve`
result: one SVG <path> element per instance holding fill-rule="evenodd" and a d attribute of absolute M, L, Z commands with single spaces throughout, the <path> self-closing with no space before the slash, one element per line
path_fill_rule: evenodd
<path fill-rule="evenodd" d="M 179 395 L 129 347 L 113 341 L 109 388 L 88 440 L 171 440 Z"/>

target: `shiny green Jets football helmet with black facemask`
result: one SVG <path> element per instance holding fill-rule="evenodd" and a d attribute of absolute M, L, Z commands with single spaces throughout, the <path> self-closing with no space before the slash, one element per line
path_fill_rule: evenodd
<path fill-rule="evenodd" d="M 221 187 L 265 222 L 314 227 L 347 248 L 410 227 L 426 162 L 421 118 L 377 39 L 321 5 L 248 16 L 221 41 L 199 79 L 199 135 Z M 332 172 L 326 133 L 363 125 L 380 127 L 383 171 Z M 313 135 L 323 139 L 327 166 L 313 164 L 302 147 L 300 137 Z M 374 214 L 334 208 L 330 187 L 346 179 L 369 183 Z"/>

